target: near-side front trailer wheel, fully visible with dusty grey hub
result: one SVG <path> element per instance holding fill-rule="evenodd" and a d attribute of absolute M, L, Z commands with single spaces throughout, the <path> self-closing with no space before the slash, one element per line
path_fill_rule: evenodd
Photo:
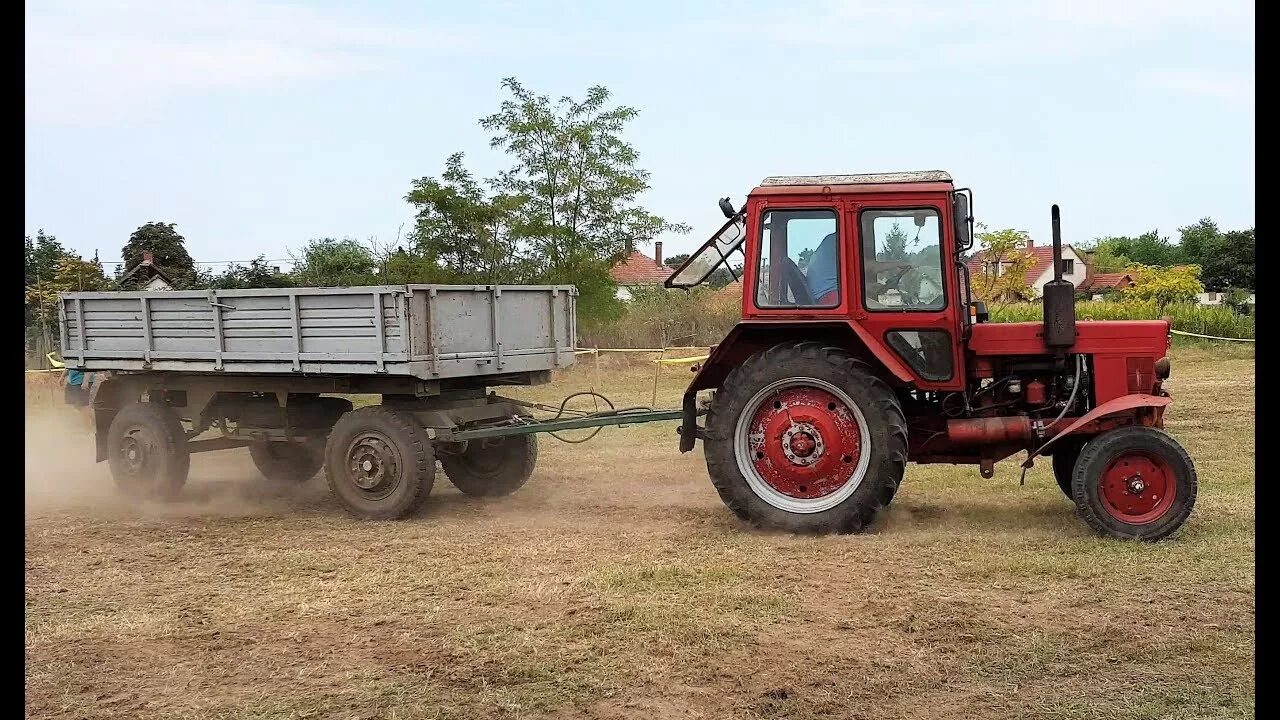
<path fill-rule="evenodd" d="M 435 483 L 435 454 L 413 415 L 381 406 L 343 415 L 325 446 L 325 477 L 348 512 L 396 520 L 417 510 Z"/>

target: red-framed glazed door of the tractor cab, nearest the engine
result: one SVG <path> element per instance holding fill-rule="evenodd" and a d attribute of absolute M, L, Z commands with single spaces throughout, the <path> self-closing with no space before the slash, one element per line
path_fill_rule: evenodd
<path fill-rule="evenodd" d="M 850 202 L 854 322 L 902 360 L 919 389 L 964 388 L 951 204 L 936 196 Z"/>

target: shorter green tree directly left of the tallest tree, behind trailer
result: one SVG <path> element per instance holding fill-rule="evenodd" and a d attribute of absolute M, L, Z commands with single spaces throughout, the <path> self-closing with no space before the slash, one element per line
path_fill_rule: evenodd
<path fill-rule="evenodd" d="M 404 196 L 417 209 L 413 242 L 420 260 L 401 254 L 397 268 L 434 274 L 433 282 L 499 283 L 521 279 L 525 272 L 520 236 L 512 228 L 521 197 L 490 197 L 462 165 L 462 152 L 449 155 L 440 179 L 413 181 Z M 436 272 L 438 270 L 438 272 Z"/>

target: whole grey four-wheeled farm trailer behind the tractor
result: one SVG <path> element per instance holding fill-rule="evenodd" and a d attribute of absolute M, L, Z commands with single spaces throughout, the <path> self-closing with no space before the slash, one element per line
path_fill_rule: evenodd
<path fill-rule="evenodd" d="M 573 364 L 576 297 L 572 286 L 70 292 L 58 313 L 67 366 L 106 377 L 92 401 L 97 461 L 124 492 L 173 497 L 191 454 L 248 447 L 268 480 L 324 468 L 351 512 L 393 519 L 430 493 L 436 460 L 468 495 L 529 479 L 532 434 L 452 436 L 527 416 L 489 388 Z M 344 395 L 380 402 L 355 409 Z"/>

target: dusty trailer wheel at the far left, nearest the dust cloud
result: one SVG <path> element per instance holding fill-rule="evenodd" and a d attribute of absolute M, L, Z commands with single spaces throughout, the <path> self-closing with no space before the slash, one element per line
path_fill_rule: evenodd
<path fill-rule="evenodd" d="M 125 495 L 172 500 L 187 483 L 187 430 L 168 406 L 131 402 L 108 428 L 108 465 Z"/>

